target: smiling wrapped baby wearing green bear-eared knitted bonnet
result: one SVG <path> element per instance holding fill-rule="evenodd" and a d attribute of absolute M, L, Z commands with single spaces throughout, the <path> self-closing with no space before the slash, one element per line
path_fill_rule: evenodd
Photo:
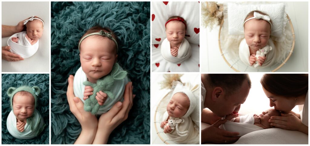
<path fill-rule="evenodd" d="M 10 87 L 7 91 L 12 108 L 7 117 L 7 130 L 15 138 L 31 139 L 43 131 L 45 124 L 36 110 L 39 93 L 38 86 Z"/>

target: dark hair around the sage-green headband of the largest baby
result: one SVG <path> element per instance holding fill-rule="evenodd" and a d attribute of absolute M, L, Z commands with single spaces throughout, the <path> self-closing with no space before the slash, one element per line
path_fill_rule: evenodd
<path fill-rule="evenodd" d="M 86 31 L 86 33 L 80 38 L 80 40 L 79 40 L 79 42 L 82 40 L 82 38 L 84 38 L 86 35 L 88 35 L 88 34 L 91 34 L 91 33 L 99 33 L 100 31 L 104 31 L 104 32 L 106 32 L 106 33 L 112 33 L 111 34 L 111 36 L 112 36 L 112 38 L 114 38 L 115 40 L 116 40 L 116 42 L 119 44 L 119 42 L 118 42 L 118 39 L 117 39 L 117 36 L 115 35 L 115 33 L 111 30 L 111 29 L 109 29 L 109 28 L 107 28 L 107 27 L 101 27 L 101 26 L 93 26 L 93 27 L 91 27 L 90 29 L 88 29 L 87 31 Z M 94 36 L 94 37 L 97 37 L 97 38 L 102 38 L 102 39 L 104 39 L 104 38 L 106 38 L 105 36 L 101 36 L 101 35 L 92 35 L 92 36 Z M 113 41 L 114 42 L 114 41 Z M 114 44 L 114 52 L 115 52 L 115 55 L 117 54 L 117 45 L 115 44 L 115 43 L 113 43 Z M 80 49 L 82 49 L 82 47 L 80 48 Z"/>

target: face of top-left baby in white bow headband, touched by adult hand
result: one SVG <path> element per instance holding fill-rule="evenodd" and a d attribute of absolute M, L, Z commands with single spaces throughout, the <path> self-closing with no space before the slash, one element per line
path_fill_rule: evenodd
<path fill-rule="evenodd" d="M 27 35 L 33 40 L 38 40 L 43 34 L 43 23 L 40 20 L 33 20 L 27 23 Z"/>

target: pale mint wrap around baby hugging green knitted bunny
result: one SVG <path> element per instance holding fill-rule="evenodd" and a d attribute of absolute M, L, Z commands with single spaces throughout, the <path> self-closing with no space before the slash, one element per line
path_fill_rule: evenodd
<path fill-rule="evenodd" d="M 120 67 L 120 70 L 123 71 L 123 69 Z M 80 67 L 77 72 L 75 73 L 74 80 L 73 80 L 73 91 L 74 95 L 79 97 L 83 102 L 84 97 L 84 90 L 85 90 L 85 85 L 83 85 L 83 82 L 87 81 L 86 74 L 83 72 L 82 67 Z M 124 79 L 121 80 L 116 80 L 114 83 L 114 87 L 112 89 L 112 93 L 115 96 L 114 99 L 107 98 L 102 106 L 100 106 L 98 115 L 101 115 L 103 113 L 108 112 L 115 103 L 118 101 L 123 100 L 123 95 L 125 91 L 125 85 L 129 82 L 129 78 L 126 76 Z M 94 93 L 95 94 L 95 93 Z M 91 105 L 92 107 L 94 105 Z"/>

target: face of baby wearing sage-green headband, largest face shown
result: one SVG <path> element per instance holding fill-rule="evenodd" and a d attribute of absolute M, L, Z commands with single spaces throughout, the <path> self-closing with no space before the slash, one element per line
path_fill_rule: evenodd
<path fill-rule="evenodd" d="M 87 79 L 97 79 L 109 74 L 116 60 L 115 43 L 109 38 L 96 35 L 85 38 L 80 45 L 80 61 Z"/>

